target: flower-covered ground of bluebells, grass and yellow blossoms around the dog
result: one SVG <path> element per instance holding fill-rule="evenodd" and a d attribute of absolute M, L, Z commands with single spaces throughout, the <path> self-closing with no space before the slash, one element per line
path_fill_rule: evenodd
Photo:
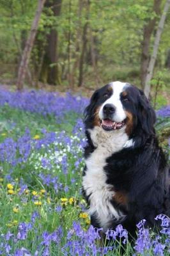
<path fill-rule="evenodd" d="M 121 225 L 107 245 L 90 226 L 81 194 L 87 104 L 70 94 L 0 90 L 0 255 L 118 256 L 116 237 L 124 255 L 169 255 L 166 216 L 157 218 L 159 236 L 141 221 L 134 246 Z"/>

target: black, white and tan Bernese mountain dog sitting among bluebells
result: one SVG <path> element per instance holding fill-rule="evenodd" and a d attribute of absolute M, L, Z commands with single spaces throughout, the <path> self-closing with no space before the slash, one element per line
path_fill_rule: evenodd
<path fill-rule="evenodd" d="M 131 84 L 116 81 L 93 93 L 84 113 L 82 192 L 94 227 L 105 232 L 121 223 L 134 236 L 139 221 L 153 227 L 158 214 L 169 215 L 169 170 L 155 120 Z"/>

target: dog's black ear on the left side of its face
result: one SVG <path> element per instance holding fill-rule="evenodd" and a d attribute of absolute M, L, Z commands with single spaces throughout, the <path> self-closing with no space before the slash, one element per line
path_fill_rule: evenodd
<path fill-rule="evenodd" d="M 84 123 L 86 124 L 88 121 L 93 118 L 93 115 L 95 113 L 95 106 L 98 99 L 98 90 L 93 93 L 91 96 L 89 105 L 84 109 Z"/>

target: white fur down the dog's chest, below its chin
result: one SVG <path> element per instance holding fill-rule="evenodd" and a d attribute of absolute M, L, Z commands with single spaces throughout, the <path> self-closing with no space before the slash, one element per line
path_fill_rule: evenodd
<path fill-rule="evenodd" d="M 82 180 L 82 186 L 89 196 L 89 214 L 95 214 L 104 231 L 109 228 L 113 219 L 120 220 L 125 218 L 121 212 L 117 212 L 111 204 L 114 196 L 112 186 L 106 184 L 104 173 L 105 160 L 114 152 L 120 151 L 128 141 L 125 130 L 121 131 L 102 131 L 100 127 L 90 130 L 91 140 L 95 151 L 86 159 L 86 175 Z"/>

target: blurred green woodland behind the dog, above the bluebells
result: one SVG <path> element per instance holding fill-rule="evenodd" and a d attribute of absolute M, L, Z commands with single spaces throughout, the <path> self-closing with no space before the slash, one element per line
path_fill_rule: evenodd
<path fill-rule="evenodd" d="M 1 84 L 17 84 L 24 47 L 41 1 L 0 0 Z M 26 86 L 86 94 L 114 80 L 144 87 L 158 21 L 167 1 L 43 2 L 24 79 Z M 156 108 L 169 103 L 169 38 L 167 12 L 151 81 Z"/>

